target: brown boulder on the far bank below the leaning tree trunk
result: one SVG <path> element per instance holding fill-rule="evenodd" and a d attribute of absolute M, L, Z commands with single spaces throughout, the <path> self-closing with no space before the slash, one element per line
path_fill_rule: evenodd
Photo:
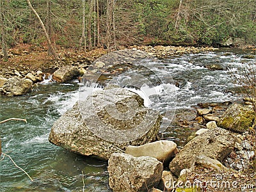
<path fill-rule="evenodd" d="M 78 77 L 79 75 L 79 68 L 73 66 L 65 66 L 60 67 L 58 70 L 56 70 L 52 75 L 52 79 L 57 82 L 64 83 L 72 79 L 76 79 L 76 77 Z"/>

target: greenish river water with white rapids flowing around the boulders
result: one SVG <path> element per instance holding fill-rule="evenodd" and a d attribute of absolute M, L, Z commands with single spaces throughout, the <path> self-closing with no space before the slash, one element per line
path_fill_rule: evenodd
<path fill-rule="evenodd" d="M 236 100 L 239 96 L 232 90 L 237 85 L 230 79 L 228 70 L 212 71 L 204 66 L 217 63 L 224 69 L 230 67 L 235 71 L 245 63 L 255 63 L 256 59 L 243 58 L 246 52 L 225 53 L 227 51 L 141 61 L 157 65 L 160 74 L 161 70 L 163 73 L 168 71 L 180 84 L 179 88 L 171 87 L 176 92 L 177 99 L 172 100 L 175 104 L 163 100 L 154 106 L 152 98 L 147 105 L 161 111 L 167 106 L 188 109 L 200 102 Z M 163 88 L 166 86 L 158 84 L 155 90 Z M 140 90 L 130 89 L 143 97 Z M 8 157 L 4 157 L 0 161 L 1 191 L 83 191 L 83 188 L 84 191 L 111 191 L 106 162 L 67 152 L 48 141 L 52 124 L 72 108 L 79 97 L 78 90 L 78 81 L 46 83 L 39 84 L 33 92 L 22 97 L 0 97 L 0 120 L 15 117 L 28 121 L 27 124 L 18 121 L 1 124 L 2 150 L 34 179 L 31 182 Z M 167 129 L 166 134 L 172 138 L 173 131 Z"/>

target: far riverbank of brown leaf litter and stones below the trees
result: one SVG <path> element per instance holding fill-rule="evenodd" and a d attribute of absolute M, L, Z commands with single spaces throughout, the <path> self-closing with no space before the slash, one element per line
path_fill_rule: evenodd
<path fill-rule="evenodd" d="M 186 53 L 216 50 L 213 47 L 152 47 L 137 45 L 130 47 L 130 49 L 145 51 L 147 52 L 148 56 L 156 56 L 158 58 Z M 83 76 L 84 72 L 88 72 L 89 74 L 93 73 L 94 70 L 98 70 L 103 66 L 101 67 L 100 65 L 93 65 L 93 68 L 88 67 L 97 58 L 106 54 L 106 52 L 107 51 L 105 49 L 95 49 L 86 53 L 81 51 L 61 50 L 59 52 L 60 60 L 54 61 L 49 58 L 46 55 L 46 52 L 43 50 L 34 51 L 33 49 L 31 49 L 30 51 L 28 51 L 24 48 L 11 49 L 9 61 L 1 62 L 0 92 L 2 95 L 9 96 L 24 95 L 33 90 L 33 84 L 40 83 L 45 79 L 49 79 L 49 77 L 51 77 L 52 75 L 52 81 L 66 82 L 72 79 L 76 79 L 79 76 Z M 125 60 L 125 54 L 123 60 Z M 122 61 L 122 63 L 124 62 L 125 61 Z M 24 79 L 29 80 L 24 81 Z M 27 85 L 28 81 L 29 85 Z M 24 84 L 24 82 L 26 83 Z M 5 86 L 4 83 L 6 83 Z M 10 86 L 12 86 L 12 88 L 10 88 Z M 20 86 L 25 88 L 19 89 Z M 15 92 L 15 90 L 18 91 Z"/>

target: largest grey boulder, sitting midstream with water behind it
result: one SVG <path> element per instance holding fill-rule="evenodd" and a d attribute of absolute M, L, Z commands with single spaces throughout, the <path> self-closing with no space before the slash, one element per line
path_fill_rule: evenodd
<path fill-rule="evenodd" d="M 115 118 L 113 115 L 116 111 L 113 109 L 111 112 L 110 108 L 113 104 L 115 106 L 115 100 L 118 100 L 116 108 L 124 111 L 124 114 L 127 103 L 136 100 L 136 114 L 127 120 Z M 160 120 L 159 113 L 143 106 L 143 99 L 138 94 L 123 88 L 108 87 L 93 93 L 82 103 L 77 102 L 61 116 L 52 126 L 49 141 L 77 154 L 106 160 L 115 152 L 124 152 L 128 145 L 155 141 Z M 142 131 L 142 134 L 132 134 L 132 129 Z M 132 140 L 127 138 L 130 132 Z"/>

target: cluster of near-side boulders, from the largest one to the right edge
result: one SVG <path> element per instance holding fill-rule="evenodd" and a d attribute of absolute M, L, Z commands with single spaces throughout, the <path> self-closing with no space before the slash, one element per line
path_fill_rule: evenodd
<path fill-rule="evenodd" d="M 111 102 L 116 95 L 118 102 Z M 130 100 L 138 102 L 133 120 L 120 121 L 109 116 L 113 114 L 113 108 L 109 105 L 116 105 L 118 111 L 125 113 L 125 106 Z M 110 111 L 106 113 L 106 109 Z M 175 182 L 179 183 L 184 175 L 198 167 L 235 173 L 236 170 L 245 168 L 248 163 L 246 159 L 255 156 L 252 143 L 243 134 L 248 126 L 253 126 L 252 106 L 229 104 L 221 116 L 213 114 L 217 109 L 220 107 L 215 104 L 197 109 L 195 119 L 199 125 L 202 121 L 201 126 L 205 128 L 198 129 L 191 140 L 178 150 L 173 141 L 157 140 L 161 118 L 158 113 L 152 113 L 143 106 L 143 99 L 139 95 L 124 88 L 109 86 L 95 92 L 82 104 L 77 102 L 61 116 L 52 126 L 49 141 L 72 152 L 108 161 L 109 186 L 113 191 L 172 191 L 177 187 Z M 149 126 L 142 123 L 147 116 L 145 114 L 156 115 L 154 124 Z M 227 123 L 228 120 L 230 123 Z M 104 129 L 101 129 L 102 123 Z M 139 124 L 148 126 L 148 129 L 134 140 L 120 142 L 118 138 L 121 134 L 115 137 L 111 131 L 109 133 L 113 140 L 99 134 L 111 129 L 115 129 L 114 132 L 127 131 Z M 92 127 L 99 127 L 99 132 L 95 132 Z M 242 159 L 244 163 L 235 163 L 238 159 Z"/>

